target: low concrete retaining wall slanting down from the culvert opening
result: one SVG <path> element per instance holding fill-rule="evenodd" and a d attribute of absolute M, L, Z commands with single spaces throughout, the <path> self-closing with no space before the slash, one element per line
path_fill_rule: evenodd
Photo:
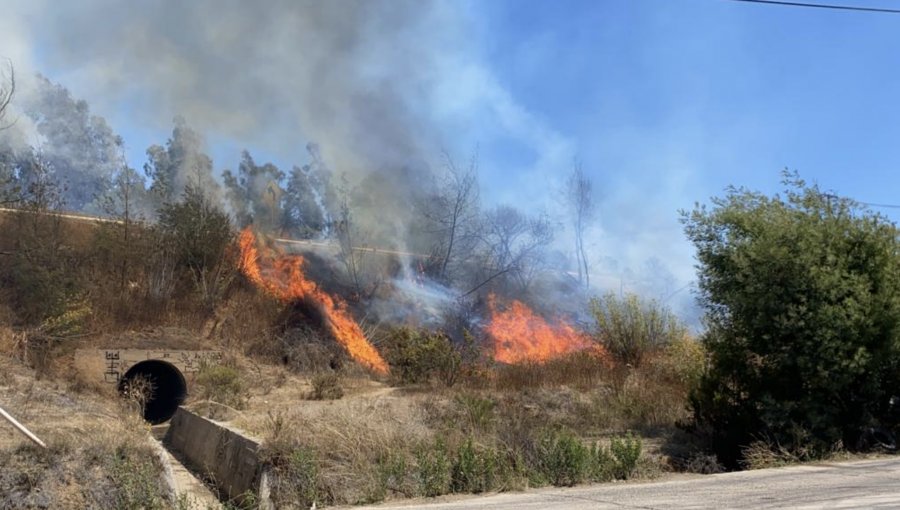
<path fill-rule="evenodd" d="M 183 407 L 172 417 L 164 441 L 230 500 L 240 501 L 247 492 L 258 493 L 261 467 L 256 441 Z"/>

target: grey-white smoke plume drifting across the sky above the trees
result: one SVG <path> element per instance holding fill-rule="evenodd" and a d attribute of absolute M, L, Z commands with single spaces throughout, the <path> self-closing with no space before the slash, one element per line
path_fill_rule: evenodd
<path fill-rule="evenodd" d="M 530 212 L 555 207 L 547 190 L 564 179 L 573 158 L 586 150 L 520 104 L 485 65 L 473 29 L 477 3 L 6 4 L 0 15 L 0 55 L 12 58 L 20 74 L 50 74 L 120 131 L 127 123 L 167 136 L 173 117 L 181 115 L 208 137 L 239 140 L 248 148 L 294 160 L 305 158 L 304 146 L 312 141 L 335 176 L 348 173 L 367 183 L 366 176 L 388 173 L 382 181 L 389 188 L 410 189 L 418 184 L 408 176 L 427 171 L 442 150 L 465 157 L 466 151 L 502 132 L 505 139 L 528 147 L 533 157 L 515 169 L 514 179 L 483 196 Z M 221 168 L 234 162 L 216 164 Z M 494 169 L 492 177 L 507 170 Z M 659 254 L 655 248 L 666 243 L 653 239 L 659 234 L 648 232 L 645 217 L 635 220 L 640 224 L 633 229 L 612 228 L 623 217 L 616 201 L 627 195 L 604 193 L 609 201 L 601 207 L 601 222 L 588 244 L 596 247 L 595 271 L 614 273 L 606 280 L 621 283 L 626 270 L 642 271 L 648 256 Z M 386 209 L 360 216 L 377 212 L 381 225 L 402 231 L 409 223 L 403 215 L 411 212 L 407 203 L 377 198 L 373 202 Z M 674 211 L 652 213 L 657 212 L 674 219 Z M 681 238 L 675 227 L 667 238 Z M 641 234 L 604 237 L 622 232 Z M 404 241 L 395 248 L 415 248 Z M 558 248 L 569 250 L 567 242 Z M 684 245 L 681 239 L 679 246 Z M 648 253 L 648 246 L 654 251 Z M 690 256 L 680 248 L 678 252 L 672 263 L 679 268 L 680 285 L 690 273 Z M 616 259 L 618 269 L 603 257 Z M 604 277 L 597 281 L 602 284 Z"/>

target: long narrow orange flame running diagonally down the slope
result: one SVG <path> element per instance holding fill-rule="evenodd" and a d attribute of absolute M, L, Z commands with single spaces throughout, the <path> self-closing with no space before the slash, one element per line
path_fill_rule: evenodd
<path fill-rule="evenodd" d="M 331 334 L 350 356 L 380 374 L 387 374 L 387 363 L 353 320 L 346 303 L 320 290 L 303 274 L 303 257 L 276 255 L 271 250 L 260 256 L 256 235 L 249 227 L 241 232 L 239 243 L 241 271 L 251 282 L 282 301 L 309 299 L 315 302 L 322 310 Z"/>

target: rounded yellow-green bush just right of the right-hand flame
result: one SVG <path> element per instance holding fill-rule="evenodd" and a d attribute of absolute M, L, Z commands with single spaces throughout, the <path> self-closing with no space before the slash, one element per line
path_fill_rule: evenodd
<path fill-rule="evenodd" d="M 622 363 L 639 366 L 644 356 L 683 338 L 687 328 L 665 306 L 642 301 L 635 294 L 620 298 L 608 293 L 594 298 L 591 315 L 597 322 L 595 337 Z"/>

